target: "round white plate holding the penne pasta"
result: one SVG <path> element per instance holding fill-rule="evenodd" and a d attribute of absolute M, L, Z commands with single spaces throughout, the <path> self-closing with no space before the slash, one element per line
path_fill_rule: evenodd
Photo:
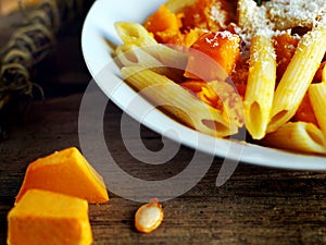
<path fill-rule="evenodd" d="M 292 154 L 252 144 L 214 138 L 188 128 L 153 110 L 136 96 L 122 79 L 112 61 L 112 49 L 106 40 L 120 44 L 113 23 L 116 21 L 143 22 L 165 0 L 97 0 L 83 27 L 82 48 L 86 64 L 103 93 L 122 110 L 149 128 L 175 140 L 208 152 L 242 162 L 294 170 L 326 170 L 326 158 Z M 137 110 L 135 107 L 137 106 Z M 146 114 L 146 115 L 145 115 Z M 171 133 L 172 128 L 174 133 Z"/>

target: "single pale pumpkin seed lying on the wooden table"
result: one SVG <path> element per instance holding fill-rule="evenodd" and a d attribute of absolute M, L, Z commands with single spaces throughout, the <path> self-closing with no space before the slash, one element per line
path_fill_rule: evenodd
<path fill-rule="evenodd" d="M 142 205 L 135 215 L 135 226 L 139 232 L 154 231 L 163 220 L 162 205 L 158 201 Z"/>

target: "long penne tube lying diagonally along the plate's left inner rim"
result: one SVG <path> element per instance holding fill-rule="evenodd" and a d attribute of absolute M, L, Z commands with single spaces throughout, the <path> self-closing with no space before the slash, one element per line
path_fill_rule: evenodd
<path fill-rule="evenodd" d="M 181 86 L 166 76 L 141 66 L 125 66 L 122 74 L 142 96 L 155 107 L 163 108 L 186 125 L 217 137 L 225 137 L 238 132 L 224 119 L 221 111 L 200 101 Z"/>

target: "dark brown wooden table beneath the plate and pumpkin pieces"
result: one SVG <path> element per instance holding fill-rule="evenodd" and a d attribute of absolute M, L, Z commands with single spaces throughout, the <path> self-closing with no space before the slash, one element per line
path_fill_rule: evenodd
<path fill-rule="evenodd" d="M 36 68 L 34 81 L 47 99 L 12 117 L 0 143 L 0 244 L 5 244 L 7 213 L 27 164 L 70 146 L 79 147 L 78 112 L 90 81 L 79 47 L 80 23 L 63 30 L 58 48 Z M 73 30 L 73 32 L 72 32 Z M 122 111 L 109 102 L 105 138 L 116 162 L 140 179 L 172 176 L 189 163 L 193 150 L 181 147 L 168 166 L 143 169 L 125 149 L 120 134 Z M 156 133 L 141 127 L 145 145 L 162 147 Z M 215 186 L 223 159 L 215 158 L 204 177 L 187 193 L 163 201 L 164 221 L 150 234 L 134 229 L 140 203 L 110 191 L 110 201 L 90 205 L 93 244 L 326 244 L 326 174 L 240 163 L 231 177 Z M 162 175 L 161 175 L 162 176 Z"/>

